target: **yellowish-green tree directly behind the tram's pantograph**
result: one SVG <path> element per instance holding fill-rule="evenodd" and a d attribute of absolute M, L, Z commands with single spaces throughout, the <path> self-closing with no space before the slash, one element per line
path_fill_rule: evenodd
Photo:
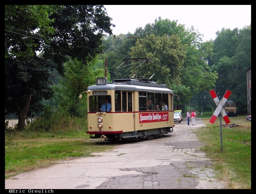
<path fill-rule="evenodd" d="M 153 79 L 158 83 L 165 83 L 168 87 L 172 83 L 180 84 L 180 69 L 186 55 L 186 45 L 181 45 L 179 38 L 147 35 L 135 45 L 131 48 L 132 58 L 149 58 L 152 61 L 147 68 L 140 67 L 145 78 L 155 73 Z"/>

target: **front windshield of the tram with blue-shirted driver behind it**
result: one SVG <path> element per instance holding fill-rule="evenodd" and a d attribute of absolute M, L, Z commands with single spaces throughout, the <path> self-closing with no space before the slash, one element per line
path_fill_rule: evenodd
<path fill-rule="evenodd" d="M 111 108 L 110 95 L 89 96 L 89 112 L 110 112 Z"/>

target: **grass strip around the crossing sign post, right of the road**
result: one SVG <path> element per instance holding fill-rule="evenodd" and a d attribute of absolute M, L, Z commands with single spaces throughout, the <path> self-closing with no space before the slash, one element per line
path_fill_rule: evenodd
<path fill-rule="evenodd" d="M 229 189 L 251 189 L 251 121 L 244 116 L 229 118 L 231 123 L 244 127 L 226 128 L 222 126 L 223 152 L 220 149 L 220 120 L 212 125 L 209 118 L 203 118 L 205 128 L 200 128 L 196 134 L 199 141 L 207 143 L 201 148 L 207 157 L 213 161 L 217 170 L 217 178 L 228 182 Z M 222 124 L 225 124 L 222 120 Z"/>

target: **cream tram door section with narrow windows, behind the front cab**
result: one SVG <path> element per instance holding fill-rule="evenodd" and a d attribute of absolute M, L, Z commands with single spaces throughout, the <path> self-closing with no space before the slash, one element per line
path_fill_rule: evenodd
<path fill-rule="evenodd" d="M 115 91 L 115 122 L 124 132 L 134 131 L 133 104 L 133 92 Z"/>

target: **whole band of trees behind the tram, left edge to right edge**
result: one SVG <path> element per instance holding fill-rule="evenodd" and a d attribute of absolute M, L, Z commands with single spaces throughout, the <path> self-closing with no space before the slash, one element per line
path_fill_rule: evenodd
<path fill-rule="evenodd" d="M 246 113 L 251 26 L 223 28 L 206 42 L 178 20 L 159 17 L 133 34 L 112 35 L 111 26 L 102 5 L 5 5 L 5 114 L 17 113 L 19 129 L 28 111 L 40 111 L 44 104 L 71 116 L 86 115 L 86 99 L 78 96 L 104 76 L 105 58 L 109 81 L 120 78 L 115 69 L 123 59 L 150 59 L 138 70 L 145 78 L 155 74 L 153 81 L 180 96 L 174 98 L 177 109 L 212 111 L 209 91 L 215 89 L 221 98 L 229 89 L 238 113 Z M 124 78 L 134 73 L 120 72 Z"/>

